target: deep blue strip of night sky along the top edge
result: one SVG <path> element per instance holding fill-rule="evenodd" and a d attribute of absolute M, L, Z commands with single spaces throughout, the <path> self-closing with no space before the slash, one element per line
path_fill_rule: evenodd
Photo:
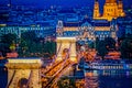
<path fill-rule="evenodd" d="M 35 8 L 45 8 L 50 6 L 61 6 L 63 8 L 70 7 L 94 7 L 95 0 L 11 0 L 12 4 L 34 6 Z M 105 3 L 105 0 L 99 0 L 100 4 Z M 9 0 L 0 0 L 0 6 L 8 4 Z M 123 0 L 124 7 L 132 6 L 132 0 Z"/>

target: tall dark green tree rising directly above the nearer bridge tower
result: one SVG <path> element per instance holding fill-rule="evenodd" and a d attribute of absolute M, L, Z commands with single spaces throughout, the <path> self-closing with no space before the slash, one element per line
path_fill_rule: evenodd
<path fill-rule="evenodd" d="M 34 31 L 28 31 L 21 34 L 19 54 L 30 56 L 30 53 L 36 52 L 36 34 Z"/>

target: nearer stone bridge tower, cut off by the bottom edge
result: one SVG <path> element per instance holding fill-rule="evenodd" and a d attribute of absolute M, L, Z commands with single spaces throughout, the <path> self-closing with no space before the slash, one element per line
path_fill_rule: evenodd
<path fill-rule="evenodd" d="M 7 88 L 42 88 L 41 58 L 9 58 Z"/>

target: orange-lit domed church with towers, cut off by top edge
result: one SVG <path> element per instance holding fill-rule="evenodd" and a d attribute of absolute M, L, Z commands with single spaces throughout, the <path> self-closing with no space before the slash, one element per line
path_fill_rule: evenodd
<path fill-rule="evenodd" d="M 94 19 L 96 20 L 108 20 L 111 21 L 112 19 L 117 19 L 119 16 L 124 16 L 125 13 L 123 11 L 123 3 L 122 0 L 106 0 L 103 6 L 103 13 L 100 14 L 99 12 L 99 2 L 98 0 L 95 1 L 94 8 Z"/>

